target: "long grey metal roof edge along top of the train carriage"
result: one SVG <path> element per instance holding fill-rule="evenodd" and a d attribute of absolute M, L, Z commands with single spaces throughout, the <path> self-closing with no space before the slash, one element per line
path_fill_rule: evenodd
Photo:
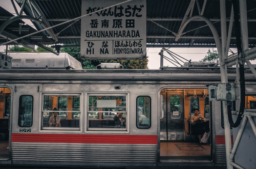
<path fill-rule="evenodd" d="M 2 80 L 36 81 L 221 81 L 218 69 L 0 69 Z M 228 79 L 236 80 L 236 70 L 228 70 Z M 255 81 L 250 70 L 245 70 L 246 81 Z"/>

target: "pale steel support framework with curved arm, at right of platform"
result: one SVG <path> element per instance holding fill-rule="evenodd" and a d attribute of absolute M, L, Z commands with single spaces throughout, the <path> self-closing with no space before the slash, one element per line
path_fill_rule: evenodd
<path fill-rule="evenodd" d="M 183 18 L 182 24 L 180 26 L 179 32 L 177 34 L 176 40 L 178 40 L 182 36 L 182 32 L 184 28 L 188 25 L 188 23 L 192 20 L 195 19 L 203 19 L 207 25 L 209 26 L 218 50 L 219 54 L 219 60 L 220 60 L 220 70 L 221 70 L 221 83 L 228 83 L 227 81 L 227 67 L 235 65 L 238 63 L 238 61 L 247 63 L 248 67 L 250 68 L 251 72 L 256 78 L 256 70 L 254 67 L 251 65 L 250 60 L 256 59 L 256 47 L 253 47 L 252 49 L 249 49 L 248 45 L 248 27 L 247 27 L 247 7 L 246 7 L 246 0 L 239 0 L 239 8 L 240 8 L 240 25 L 241 25 L 241 39 L 242 39 L 242 59 L 239 60 L 238 55 L 233 56 L 228 58 L 228 50 L 229 50 L 229 44 L 230 44 L 230 38 L 231 38 L 231 30 L 232 30 L 232 25 L 233 25 L 233 18 L 234 18 L 234 13 L 233 13 L 233 7 L 230 13 L 230 22 L 229 22 L 229 27 L 228 27 L 228 33 L 227 33 L 227 19 L 226 19 L 226 7 L 225 7 L 225 0 L 220 0 L 220 13 L 221 13 L 221 40 L 218 32 L 216 31 L 215 26 L 212 24 L 212 22 L 207 19 L 204 16 L 191 16 L 188 17 L 189 12 L 191 12 L 191 8 L 193 4 L 195 3 L 195 0 L 191 0 L 187 12 Z M 200 13 L 200 12 L 199 12 Z M 238 66 L 237 66 L 238 67 Z M 237 73 L 237 76 L 239 73 Z M 239 81 L 237 80 L 237 83 Z M 240 98 L 241 99 L 241 98 Z M 225 128 L 225 144 L 226 144 L 226 161 L 227 161 L 227 168 L 233 168 L 233 166 L 237 168 L 242 168 L 238 164 L 234 163 L 232 161 L 234 153 L 236 153 L 237 147 L 239 145 L 240 138 L 243 134 L 244 127 L 247 121 L 247 118 L 249 119 L 250 125 L 253 129 L 254 135 L 256 136 L 256 127 L 255 124 L 252 120 L 252 117 L 255 117 L 256 112 L 250 112 L 248 113 L 249 110 L 246 110 L 244 115 L 243 115 L 243 120 L 242 124 L 240 126 L 239 134 L 236 138 L 236 141 L 234 143 L 233 149 L 231 150 L 231 140 L 230 140 L 230 125 L 228 121 L 228 115 L 227 115 L 227 102 L 223 102 L 223 116 L 224 116 L 224 128 Z M 249 145 L 248 145 L 249 146 Z"/>

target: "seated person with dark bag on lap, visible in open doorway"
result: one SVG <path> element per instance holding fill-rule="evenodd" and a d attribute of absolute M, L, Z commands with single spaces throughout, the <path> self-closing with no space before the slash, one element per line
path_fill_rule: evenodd
<path fill-rule="evenodd" d="M 191 115 L 191 124 L 191 134 L 197 135 L 199 143 L 203 143 L 201 141 L 201 135 L 209 132 L 209 121 L 199 114 L 199 109 L 195 109 L 194 115 Z"/>

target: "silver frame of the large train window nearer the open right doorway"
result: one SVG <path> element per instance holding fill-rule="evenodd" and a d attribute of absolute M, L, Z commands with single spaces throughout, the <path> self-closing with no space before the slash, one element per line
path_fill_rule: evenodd
<path fill-rule="evenodd" d="M 108 96 L 126 96 L 126 111 L 121 111 L 126 113 L 126 126 L 125 128 L 90 128 L 89 127 L 89 96 L 100 96 L 100 95 L 108 95 Z M 129 133 L 130 132 L 130 93 L 129 92 L 86 92 L 86 109 L 85 109 L 85 124 L 84 124 L 84 132 L 85 133 Z M 115 111 L 118 113 L 118 111 Z M 104 113 L 104 112 L 103 112 Z"/>

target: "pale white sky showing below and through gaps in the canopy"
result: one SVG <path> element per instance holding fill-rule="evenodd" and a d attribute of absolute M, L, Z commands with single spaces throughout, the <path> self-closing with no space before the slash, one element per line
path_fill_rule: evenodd
<path fill-rule="evenodd" d="M 15 2 L 15 1 L 14 1 Z M 16 2 L 15 2 L 16 3 Z M 6 1 L 6 0 L 0 0 L 0 4 L 1 7 L 3 7 L 4 9 L 8 10 L 9 12 L 11 12 L 13 15 L 15 14 L 15 11 L 12 7 L 11 1 Z M 17 10 L 19 11 L 19 7 L 16 5 Z M 35 28 L 32 24 L 32 22 L 28 21 L 27 19 L 24 20 L 28 25 L 32 26 L 33 28 Z M 166 47 L 168 48 L 168 47 Z M 4 51 L 6 50 L 6 46 L 0 46 L 0 52 L 4 53 Z M 148 56 L 148 65 L 147 67 L 149 69 L 159 69 L 160 67 L 160 55 L 159 53 L 161 52 L 162 48 L 160 47 L 149 47 L 146 49 L 146 54 Z M 174 52 L 175 54 L 187 59 L 191 61 L 199 61 L 201 59 L 203 59 L 206 55 L 208 50 L 215 51 L 217 50 L 216 48 L 212 48 L 212 47 L 202 47 L 202 48 L 195 48 L 195 47 L 172 47 L 168 49 L 169 51 Z M 234 53 L 237 52 L 237 49 L 231 49 Z M 231 53 L 229 53 L 231 54 Z M 169 54 L 167 54 L 166 52 L 164 53 L 164 56 L 172 59 Z M 180 58 L 181 59 L 181 58 Z M 184 59 L 181 59 L 183 61 L 185 61 Z M 180 64 L 183 65 L 183 63 L 181 61 L 179 61 Z M 185 61 L 187 62 L 187 61 Z M 256 60 L 251 61 L 251 64 L 256 64 Z M 177 64 L 176 64 L 177 65 Z M 163 66 L 168 66 L 168 67 L 175 67 L 174 64 L 168 62 L 167 60 L 164 59 L 163 62 Z"/>

